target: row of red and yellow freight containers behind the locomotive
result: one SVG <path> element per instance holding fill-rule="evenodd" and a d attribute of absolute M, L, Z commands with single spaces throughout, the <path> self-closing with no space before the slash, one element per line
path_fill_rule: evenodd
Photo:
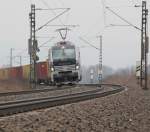
<path fill-rule="evenodd" d="M 36 65 L 37 82 L 50 83 L 51 73 L 49 72 L 48 61 L 38 62 Z M 0 69 L 0 80 L 26 80 L 30 79 L 30 65 Z"/>

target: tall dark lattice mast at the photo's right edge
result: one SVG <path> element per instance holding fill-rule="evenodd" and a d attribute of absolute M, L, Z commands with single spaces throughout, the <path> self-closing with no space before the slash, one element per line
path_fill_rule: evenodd
<path fill-rule="evenodd" d="M 141 28 L 141 73 L 140 73 L 140 85 L 143 89 L 148 89 L 148 48 L 149 48 L 149 38 L 148 38 L 148 9 L 146 1 L 142 1 L 142 28 Z M 144 86 L 143 86 L 144 81 Z"/>

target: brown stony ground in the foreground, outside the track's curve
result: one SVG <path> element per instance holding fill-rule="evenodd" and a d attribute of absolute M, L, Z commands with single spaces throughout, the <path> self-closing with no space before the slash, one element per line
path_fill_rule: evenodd
<path fill-rule="evenodd" d="M 127 91 L 108 97 L 0 118 L 0 132 L 149 132 L 150 89 L 134 77 L 112 76 L 106 82 Z"/>

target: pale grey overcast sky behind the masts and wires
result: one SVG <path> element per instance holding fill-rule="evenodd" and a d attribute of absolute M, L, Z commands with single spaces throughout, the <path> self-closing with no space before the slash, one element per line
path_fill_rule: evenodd
<path fill-rule="evenodd" d="M 0 66 L 9 64 L 10 48 L 14 48 L 13 55 L 21 55 L 23 64 L 29 62 L 27 54 L 29 38 L 29 11 L 30 4 L 35 3 L 37 8 L 47 8 L 42 2 L 45 1 L 50 8 L 71 8 L 69 12 L 53 21 L 51 24 L 75 24 L 80 25 L 71 28 L 67 40 L 82 47 L 81 62 L 83 65 L 98 63 L 99 53 L 81 41 L 83 37 L 91 44 L 99 47 L 98 35 L 103 35 L 103 64 L 112 68 L 124 68 L 135 65 L 140 59 L 140 31 L 133 27 L 109 27 L 110 24 L 127 25 L 114 14 L 103 8 L 101 0 L 1 0 L 0 3 Z M 140 28 L 141 8 L 133 7 L 141 5 L 141 0 L 104 0 L 105 6 L 124 17 Z M 150 8 L 149 1 L 148 7 Z M 62 10 L 37 11 L 37 27 L 46 23 Z M 40 60 L 45 60 L 48 55 L 48 47 L 60 41 L 59 34 L 55 30 L 59 27 L 45 27 L 37 32 L 39 45 L 55 37 L 39 53 Z M 87 46 L 84 47 L 83 46 Z M 13 64 L 17 65 L 19 59 L 15 58 Z"/>

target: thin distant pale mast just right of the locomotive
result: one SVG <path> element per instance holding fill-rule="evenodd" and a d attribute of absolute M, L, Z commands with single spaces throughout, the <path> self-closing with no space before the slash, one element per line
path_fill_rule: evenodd
<path fill-rule="evenodd" d="M 102 69 L 103 69 L 103 52 L 102 52 L 102 43 L 103 43 L 103 38 L 102 36 L 99 36 L 98 38 L 100 38 L 100 48 L 99 48 L 99 70 L 98 70 L 98 78 L 99 78 L 99 84 L 101 85 L 102 84 L 102 79 L 103 79 L 103 72 L 102 72 Z"/>

